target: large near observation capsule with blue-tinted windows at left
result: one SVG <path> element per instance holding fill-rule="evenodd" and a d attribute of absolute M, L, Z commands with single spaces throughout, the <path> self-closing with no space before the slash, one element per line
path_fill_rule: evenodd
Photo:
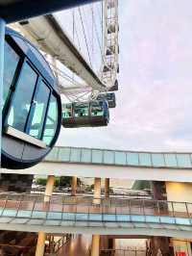
<path fill-rule="evenodd" d="M 2 167 L 35 166 L 54 146 L 60 126 L 60 94 L 49 64 L 32 43 L 7 28 Z"/>

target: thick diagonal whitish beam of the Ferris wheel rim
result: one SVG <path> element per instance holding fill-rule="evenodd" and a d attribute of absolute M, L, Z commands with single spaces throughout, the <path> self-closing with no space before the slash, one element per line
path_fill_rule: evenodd
<path fill-rule="evenodd" d="M 81 77 L 93 90 L 105 91 L 106 87 L 84 57 L 62 30 L 56 18 L 49 14 L 27 20 L 17 29 L 40 49 L 60 61 Z"/>

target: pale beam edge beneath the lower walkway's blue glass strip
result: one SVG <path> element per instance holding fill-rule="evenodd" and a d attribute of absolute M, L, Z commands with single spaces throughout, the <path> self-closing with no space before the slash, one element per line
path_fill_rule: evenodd
<path fill-rule="evenodd" d="M 22 222 L 22 219 L 21 219 Z M 87 223 L 85 223 L 86 225 Z M 132 223 L 133 225 L 134 223 Z M 174 225 L 170 225 L 166 228 L 161 225 L 157 228 L 154 228 L 149 224 L 148 227 L 130 227 L 125 223 L 120 227 L 119 225 L 103 225 L 96 226 L 92 223 L 89 226 L 85 226 L 84 222 L 81 221 L 80 225 L 49 225 L 48 223 L 42 224 L 26 224 L 26 223 L 3 223 L 1 222 L 2 230 L 13 230 L 13 231 L 25 231 L 25 232 L 39 232 L 43 231 L 49 234 L 63 234 L 63 233 L 71 233 L 71 234 L 98 234 L 98 235 L 131 235 L 131 236 L 161 236 L 161 237 L 171 237 L 171 238 L 183 238 L 183 239 L 191 239 L 191 230 L 185 229 L 182 227 L 174 227 Z M 141 224 L 142 226 L 142 224 Z"/>

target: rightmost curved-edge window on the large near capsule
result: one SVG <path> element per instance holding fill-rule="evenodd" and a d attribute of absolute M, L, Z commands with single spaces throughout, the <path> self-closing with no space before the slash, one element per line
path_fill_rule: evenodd
<path fill-rule="evenodd" d="M 47 145 L 50 145 L 53 141 L 56 130 L 58 127 L 58 101 L 54 95 L 51 95 L 49 102 L 49 109 L 46 117 L 46 123 L 43 133 L 43 141 L 46 142 Z"/>

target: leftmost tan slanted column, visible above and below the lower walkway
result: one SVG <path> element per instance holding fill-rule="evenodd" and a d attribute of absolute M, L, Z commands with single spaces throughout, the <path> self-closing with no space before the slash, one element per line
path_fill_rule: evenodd
<path fill-rule="evenodd" d="M 50 201 L 50 196 L 52 195 L 54 190 L 54 183 L 55 183 L 55 176 L 49 175 L 47 177 L 47 184 L 46 184 L 46 189 L 44 194 L 45 207 L 47 206 L 47 203 Z M 46 233 L 42 231 L 38 232 L 38 240 L 36 243 L 36 256 L 44 255 L 45 240 L 46 240 Z"/>

